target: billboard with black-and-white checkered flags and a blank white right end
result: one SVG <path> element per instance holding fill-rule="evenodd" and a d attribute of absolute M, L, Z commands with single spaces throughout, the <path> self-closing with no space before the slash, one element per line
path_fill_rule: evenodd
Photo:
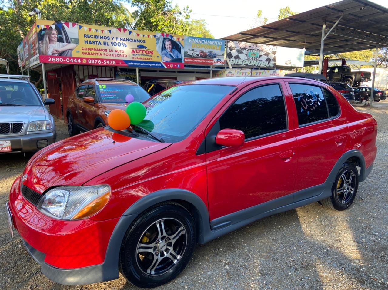
<path fill-rule="evenodd" d="M 303 67 L 305 50 L 257 43 L 228 41 L 227 58 L 231 65 Z"/>

